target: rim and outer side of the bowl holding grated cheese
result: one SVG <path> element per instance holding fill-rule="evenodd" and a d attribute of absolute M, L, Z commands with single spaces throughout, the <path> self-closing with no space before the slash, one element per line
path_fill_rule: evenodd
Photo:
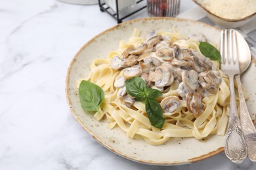
<path fill-rule="evenodd" d="M 248 16 L 245 16 L 244 18 L 240 19 L 228 19 L 228 18 L 223 18 L 221 16 L 217 16 L 216 14 L 213 14 L 210 10 L 206 9 L 205 6 L 203 5 L 203 1 L 205 0 L 193 0 L 194 3 L 196 3 L 199 7 L 201 7 L 203 10 L 205 10 L 207 17 L 215 22 L 215 24 L 221 25 L 225 28 L 235 28 L 235 27 L 240 27 L 242 25 L 245 25 L 249 23 L 253 18 L 256 17 L 256 12 L 253 14 L 250 14 Z"/>

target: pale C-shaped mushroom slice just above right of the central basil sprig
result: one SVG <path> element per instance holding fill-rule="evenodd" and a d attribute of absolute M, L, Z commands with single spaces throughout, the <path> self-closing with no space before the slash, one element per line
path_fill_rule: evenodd
<path fill-rule="evenodd" d="M 169 82 L 169 78 L 170 78 L 169 69 L 166 65 L 160 65 L 156 67 L 156 72 L 162 73 L 162 78 L 161 80 L 158 80 L 155 82 L 155 86 L 157 86 L 158 88 L 163 88 Z"/>

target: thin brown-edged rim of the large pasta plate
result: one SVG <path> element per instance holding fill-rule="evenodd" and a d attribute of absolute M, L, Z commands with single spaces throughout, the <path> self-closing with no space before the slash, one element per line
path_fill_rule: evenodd
<path fill-rule="evenodd" d="M 66 73 L 65 93 L 66 93 L 66 100 L 68 102 L 68 106 L 69 106 L 70 111 L 73 114 L 75 120 L 77 120 L 77 122 L 83 127 L 83 129 L 85 129 L 85 131 L 87 131 L 87 133 L 89 133 L 89 135 L 91 135 L 91 137 L 93 137 L 93 139 L 95 139 L 95 141 L 100 143 L 102 146 L 104 146 L 105 148 L 107 148 L 111 152 L 114 152 L 114 154 L 117 154 L 117 155 L 119 155 L 123 158 L 126 158 L 128 160 L 132 160 L 132 161 L 136 161 L 136 162 L 139 162 L 139 163 L 144 163 L 144 164 L 149 164 L 149 165 L 182 165 L 182 164 L 195 163 L 197 161 L 202 161 L 202 160 L 205 160 L 207 158 L 211 158 L 212 156 L 215 156 L 215 155 L 223 152 L 224 151 L 224 146 L 220 147 L 220 148 L 217 148 L 217 150 L 213 150 L 213 151 L 211 151 L 207 154 L 203 154 L 203 155 L 195 157 L 195 158 L 190 158 L 188 161 L 152 161 L 152 160 L 140 160 L 138 158 L 135 159 L 133 156 L 128 156 L 127 154 L 125 154 L 123 152 L 120 152 L 119 150 L 116 150 L 112 146 L 104 143 L 104 141 L 100 140 L 99 137 L 97 137 L 87 127 L 85 127 L 83 125 L 83 123 L 81 122 L 81 120 L 79 120 L 79 118 L 75 115 L 75 110 L 73 109 L 72 104 L 71 104 L 72 100 L 70 99 L 70 96 L 68 95 L 68 84 L 70 82 L 71 68 L 74 65 L 74 62 L 75 62 L 77 56 L 79 55 L 79 53 L 81 53 L 81 51 L 84 48 L 89 46 L 89 44 L 94 42 L 96 38 L 100 37 L 101 35 L 104 35 L 104 33 L 108 32 L 108 31 L 113 31 L 114 29 L 118 29 L 118 27 L 122 27 L 123 25 L 127 25 L 127 24 L 130 24 L 130 23 L 133 23 L 133 22 L 143 21 L 143 20 L 176 20 L 176 21 L 193 22 L 193 23 L 196 23 L 196 24 L 211 27 L 213 29 L 216 29 L 217 31 L 221 30 L 218 27 L 214 27 L 213 25 L 209 25 L 209 24 L 205 24 L 203 22 L 198 22 L 198 21 L 195 21 L 195 20 L 190 20 L 190 19 L 185 19 L 185 18 L 154 17 L 154 18 L 138 18 L 138 19 L 134 19 L 134 20 L 129 20 L 129 21 L 123 22 L 121 24 L 114 25 L 113 27 L 110 27 L 110 28 L 102 31 L 101 33 L 98 33 L 98 35 L 95 35 L 89 41 L 85 42 L 85 44 L 83 44 L 83 46 L 81 46 L 81 48 L 79 48 L 79 50 L 75 53 L 74 57 L 70 61 L 70 64 L 68 65 L 68 71 Z"/>

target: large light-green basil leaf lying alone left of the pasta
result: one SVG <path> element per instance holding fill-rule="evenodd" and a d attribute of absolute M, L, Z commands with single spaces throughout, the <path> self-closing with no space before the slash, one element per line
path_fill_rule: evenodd
<path fill-rule="evenodd" d="M 104 99 L 104 92 L 102 88 L 82 80 L 79 85 L 79 99 L 83 110 L 96 111 Z"/>

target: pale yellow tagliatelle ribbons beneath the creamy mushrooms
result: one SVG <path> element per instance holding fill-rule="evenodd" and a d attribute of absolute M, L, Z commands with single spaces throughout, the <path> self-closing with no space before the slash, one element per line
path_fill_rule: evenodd
<path fill-rule="evenodd" d="M 171 44 L 175 44 L 181 49 L 189 49 L 202 56 L 198 48 L 199 42 L 196 39 L 190 39 L 175 30 L 173 32 L 158 32 L 155 34 L 165 37 Z M 171 137 L 203 139 L 208 135 L 224 135 L 228 122 L 230 91 L 228 78 L 219 70 L 217 61 L 212 61 L 213 65 L 211 67 L 219 71 L 221 83 L 214 93 L 202 94 L 204 95 L 201 101 L 203 110 L 200 114 L 195 114 L 195 112 L 191 112 L 191 109 L 188 109 L 187 93 L 189 92 L 182 95 L 181 80 L 178 80 L 179 78 L 177 77 L 174 78 L 170 85 L 161 88 L 163 95 L 157 99 L 159 103 L 169 96 L 176 96 L 179 99 L 179 106 L 172 112 L 167 112 L 163 108 L 165 124 L 161 129 L 151 125 L 143 102 L 133 101 L 131 105 L 124 104 L 124 97 L 118 96 L 121 88 L 115 86 L 115 81 L 118 76 L 123 76 L 125 69 L 113 69 L 112 60 L 116 56 L 121 58 L 121 55 L 129 46 L 141 46 L 147 40 L 148 38 L 146 37 L 140 37 L 139 29 L 135 29 L 129 41 L 120 41 L 119 49 L 110 52 L 108 58 L 95 59 L 91 64 L 91 73 L 85 80 L 97 84 L 105 93 L 99 112 L 95 113 L 96 120 L 100 121 L 103 117 L 106 117 L 108 121 L 106 127 L 110 129 L 119 127 L 125 131 L 127 137 L 131 138 L 140 135 L 146 143 L 153 145 L 163 144 Z M 171 60 L 161 60 L 162 64 L 168 62 L 171 62 Z M 138 63 L 136 64 L 138 65 Z M 153 87 L 152 84 L 149 86 Z M 201 86 L 203 85 L 198 85 L 197 87 Z M 198 89 L 193 92 L 199 93 Z"/>

